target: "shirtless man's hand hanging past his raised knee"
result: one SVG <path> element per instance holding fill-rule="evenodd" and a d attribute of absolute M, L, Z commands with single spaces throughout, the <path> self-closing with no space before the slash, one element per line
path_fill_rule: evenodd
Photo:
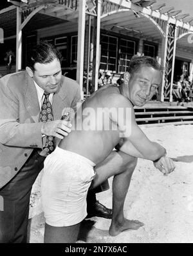
<path fill-rule="evenodd" d="M 167 176 L 170 172 L 173 172 L 176 166 L 174 166 L 174 162 L 169 157 L 161 157 L 158 161 L 153 161 L 154 166 L 163 173 L 163 175 Z"/>

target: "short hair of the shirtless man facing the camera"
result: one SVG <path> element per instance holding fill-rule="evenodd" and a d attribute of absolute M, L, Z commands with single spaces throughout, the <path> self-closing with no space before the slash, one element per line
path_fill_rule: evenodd
<path fill-rule="evenodd" d="M 163 72 L 163 68 L 161 65 L 156 61 L 156 59 L 149 57 L 149 56 L 133 56 L 129 63 L 128 72 L 132 76 L 134 72 L 136 72 L 142 66 L 150 66 L 155 70 Z"/>

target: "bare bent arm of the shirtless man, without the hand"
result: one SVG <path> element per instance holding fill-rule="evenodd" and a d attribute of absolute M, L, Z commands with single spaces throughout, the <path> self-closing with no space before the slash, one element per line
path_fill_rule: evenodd
<path fill-rule="evenodd" d="M 111 95 L 113 98 L 113 96 Z M 115 102 L 116 99 L 116 102 Z M 165 155 L 166 150 L 158 143 L 150 141 L 135 121 L 133 106 L 128 99 L 122 95 L 114 96 L 114 105 L 120 113 L 113 113 L 112 120 L 118 124 L 118 128 L 124 137 L 124 144 L 120 150 L 134 157 L 155 161 Z"/>

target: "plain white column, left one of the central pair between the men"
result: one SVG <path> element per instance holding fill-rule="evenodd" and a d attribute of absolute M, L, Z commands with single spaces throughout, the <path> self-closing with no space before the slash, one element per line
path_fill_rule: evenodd
<path fill-rule="evenodd" d="M 83 74 L 84 74 L 84 36 L 86 20 L 86 0 L 79 1 L 78 10 L 78 49 L 77 49 L 77 82 L 80 85 L 81 99 L 84 98 Z"/>

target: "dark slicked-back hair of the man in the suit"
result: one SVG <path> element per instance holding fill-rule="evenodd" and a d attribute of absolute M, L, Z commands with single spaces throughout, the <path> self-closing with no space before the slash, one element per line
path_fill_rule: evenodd
<path fill-rule="evenodd" d="M 53 46 L 53 44 L 50 44 L 46 41 L 41 41 L 41 43 L 37 44 L 31 51 L 30 54 L 28 54 L 27 58 L 27 65 L 32 69 L 32 71 L 35 71 L 35 63 L 51 63 L 54 59 L 58 59 L 61 61 L 62 55 L 60 54 L 59 50 Z"/>

